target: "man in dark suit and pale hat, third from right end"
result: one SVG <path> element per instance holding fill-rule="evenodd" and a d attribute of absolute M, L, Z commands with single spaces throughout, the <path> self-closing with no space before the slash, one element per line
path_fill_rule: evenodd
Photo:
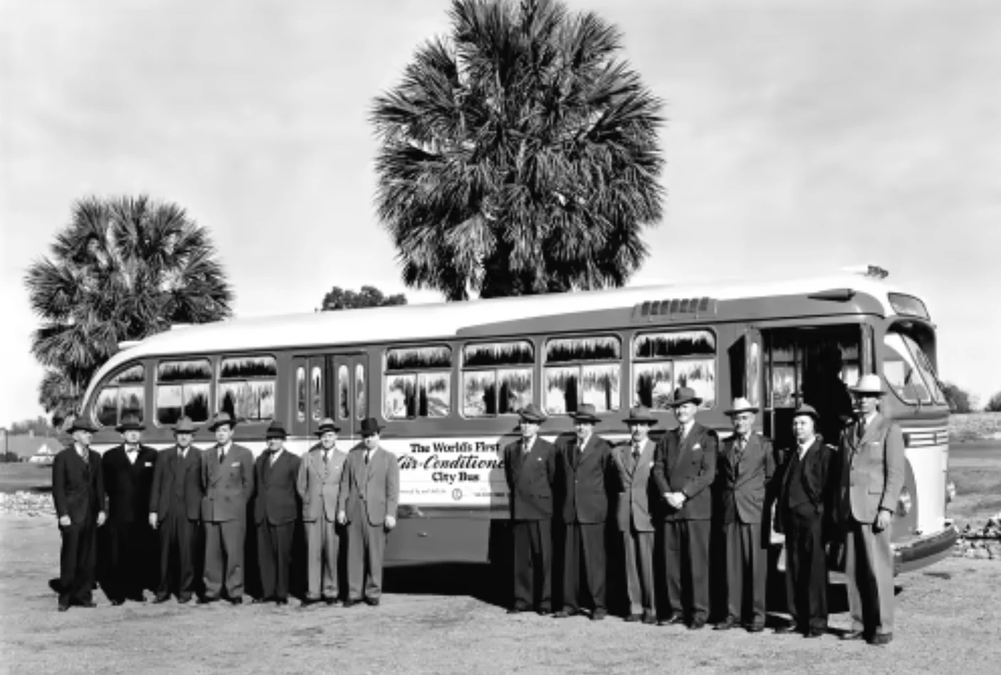
<path fill-rule="evenodd" d="M 751 620 L 744 625 L 752 633 L 765 628 L 765 585 L 768 580 L 768 544 L 771 518 L 766 495 L 775 476 L 772 442 L 754 431 L 758 408 L 747 399 L 735 399 L 726 412 L 734 424 L 734 435 L 723 442 L 717 465 L 720 489 L 718 514 L 723 524 L 727 551 L 727 618 L 717 630 L 742 623 L 745 603 Z M 749 584 L 745 584 L 749 580 Z"/>

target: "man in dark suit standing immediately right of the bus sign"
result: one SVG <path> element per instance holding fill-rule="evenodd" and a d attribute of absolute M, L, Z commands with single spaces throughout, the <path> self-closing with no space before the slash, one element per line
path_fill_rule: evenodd
<path fill-rule="evenodd" d="M 553 444 L 539 438 L 546 415 L 535 404 L 519 413 L 522 438 L 504 449 L 508 506 L 514 548 L 514 602 L 510 614 L 535 608 L 553 611 L 553 483 L 557 453 Z"/>

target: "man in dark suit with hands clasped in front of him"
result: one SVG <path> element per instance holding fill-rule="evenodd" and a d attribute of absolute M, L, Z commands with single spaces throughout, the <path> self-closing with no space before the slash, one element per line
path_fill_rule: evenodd
<path fill-rule="evenodd" d="M 657 444 L 654 480 L 661 504 L 668 603 L 671 615 L 662 625 L 688 621 L 690 629 L 706 625 L 709 616 L 709 540 L 716 477 L 716 434 L 695 421 L 702 399 L 694 390 L 675 390 L 669 405 L 678 428 Z M 690 580 L 691 588 L 683 588 Z"/>

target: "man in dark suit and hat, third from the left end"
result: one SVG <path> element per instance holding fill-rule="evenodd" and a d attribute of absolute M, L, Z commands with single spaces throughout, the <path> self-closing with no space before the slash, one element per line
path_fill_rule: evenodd
<path fill-rule="evenodd" d="M 178 420 L 174 426 L 174 445 L 157 456 L 153 469 L 149 525 L 160 535 L 160 583 L 154 602 L 170 598 L 174 577 L 177 602 L 189 602 L 194 592 L 201 509 L 201 451 L 191 445 L 194 433 L 190 418 Z"/>

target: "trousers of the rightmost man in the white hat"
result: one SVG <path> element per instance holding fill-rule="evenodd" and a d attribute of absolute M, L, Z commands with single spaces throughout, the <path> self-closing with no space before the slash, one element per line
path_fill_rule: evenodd
<path fill-rule="evenodd" d="M 893 549 L 891 529 L 875 532 L 852 519 L 845 540 L 845 578 L 852 630 L 870 635 L 893 632 Z"/>

